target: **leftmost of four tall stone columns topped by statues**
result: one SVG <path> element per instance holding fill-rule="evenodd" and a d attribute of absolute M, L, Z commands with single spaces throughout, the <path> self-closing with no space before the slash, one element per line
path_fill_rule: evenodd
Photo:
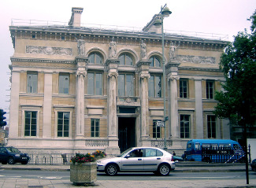
<path fill-rule="evenodd" d="M 76 57 L 76 138 L 84 138 L 84 79 L 87 58 Z"/>

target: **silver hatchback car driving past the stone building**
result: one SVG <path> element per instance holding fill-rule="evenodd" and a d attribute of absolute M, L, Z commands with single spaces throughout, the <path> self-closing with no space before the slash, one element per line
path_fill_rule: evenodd
<path fill-rule="evenodd" d="M 117 175 L 118 171 L 153 171 L 156 175 L 169 175 L 175 169 L 173 155 L 155 147 L 134 147 L 117 157 L 97 160 L 97 171 Z"/>

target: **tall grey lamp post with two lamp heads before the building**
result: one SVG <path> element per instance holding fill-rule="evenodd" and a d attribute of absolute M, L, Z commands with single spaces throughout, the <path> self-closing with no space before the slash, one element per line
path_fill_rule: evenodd
<path fill-rule="evenodd" d="M 154 22 L 154 26 L 156 28 L 161 27 L 161 57 L 162 57 L 162 66 L 163 66 L 163 98 L 164 98 L 164 128 L 165 128 L 165 140 L 164 140 L 164 149 L 167 150 L 166 146 L 166 124 L 165 121 L 168 120 L 165 112 L 165 39 L 164 39 L 164 17 L 169 17 L 172 12 L 166 6 L 161 6 L 161 11 L 158 14 L 158 17 L 161 19 L 156 19 Z"/>

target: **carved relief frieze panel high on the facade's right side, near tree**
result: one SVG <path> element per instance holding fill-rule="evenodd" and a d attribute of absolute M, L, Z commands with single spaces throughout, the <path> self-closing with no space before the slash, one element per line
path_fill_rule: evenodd
<path fill-rule="evenodd" d="M 215 57 L 177 55 L 176 61 L 195 64 L 216 64 Z"/>

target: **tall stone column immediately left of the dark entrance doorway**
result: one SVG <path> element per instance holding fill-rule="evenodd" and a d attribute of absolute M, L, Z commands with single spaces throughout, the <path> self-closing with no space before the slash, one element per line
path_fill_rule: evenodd
<path fill-rule="evenodd" d="M 106 61 L 108 69 L 108 139 L 109 148 L 118 148 L 117 135 L 117 66 L 118 59 Z"/>

